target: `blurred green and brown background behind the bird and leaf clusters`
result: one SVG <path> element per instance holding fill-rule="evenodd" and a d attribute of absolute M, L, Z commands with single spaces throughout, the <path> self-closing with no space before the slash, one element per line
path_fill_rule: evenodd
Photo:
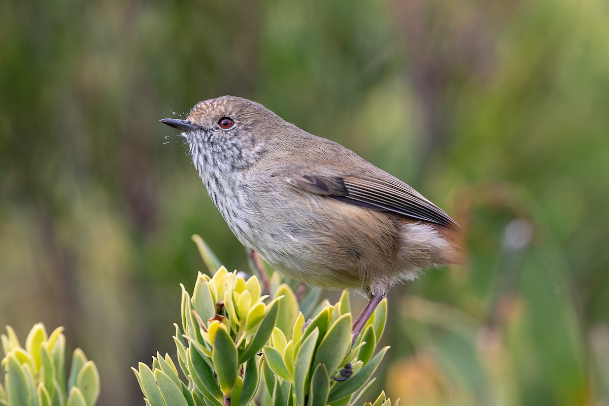
<path fill-rule="evenodd" d="M 100 404 L 143 404 L 130 366 L 175 354 L 191 235 L 247 270 L 158 119 L 233 94 L 466 229 L 465 264 L 390 292 L 376 389 L 608 405 L 608 38 L 604 0 L 4 1 L 0 326 L 65 326 Z"/>

